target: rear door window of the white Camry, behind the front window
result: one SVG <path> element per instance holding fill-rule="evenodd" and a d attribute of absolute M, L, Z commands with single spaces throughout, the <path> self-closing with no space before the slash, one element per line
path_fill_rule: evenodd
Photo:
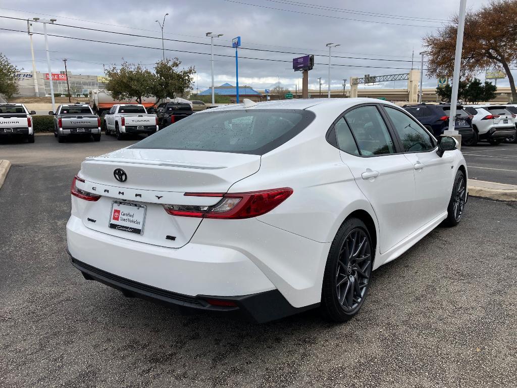
<path fill-rule="evenodd" d="M 356 108 L 345 114 L 362 156 L 394 154 L 395 146 L 375 106 Z"/>

